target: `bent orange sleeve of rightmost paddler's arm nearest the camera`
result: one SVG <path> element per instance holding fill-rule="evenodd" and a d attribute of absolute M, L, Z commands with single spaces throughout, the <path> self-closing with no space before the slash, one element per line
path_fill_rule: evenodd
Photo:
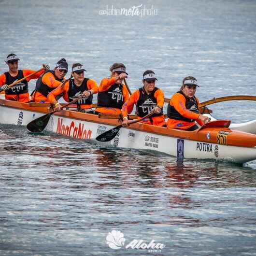
<path fill-rule="evenodd" d="M 175 93 L 171 98 L 171 105 L 184 117 L 189 119 L 198 119 L 200 114 L 196 114 L 186 109 L 186 100 L 180 93 Z"/>

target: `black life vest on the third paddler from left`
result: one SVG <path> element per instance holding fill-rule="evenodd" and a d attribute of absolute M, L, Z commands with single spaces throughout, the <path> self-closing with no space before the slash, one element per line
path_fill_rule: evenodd
<path fill-rule="evenodd" d="M 84 78 L 84 81 L 82 85 L 77 86 L 74 83 L 74 79 L 70 79 L 70 87 L 68 90 L 68 96 L 69 96 L 69 101 L 71 102 L 72 100 L 75 100 L 76 98 L 80 97 L 84 91 L 88 91 L 88 86 L 87 86 L 87 81 L 89 78 Z M 76 101 L 78 109 L 80 108 L 81 105 L 90 105 L 92 104 L 92 94 L 87 97 L 87 98 L 82 98 L 78 101 Z"/>

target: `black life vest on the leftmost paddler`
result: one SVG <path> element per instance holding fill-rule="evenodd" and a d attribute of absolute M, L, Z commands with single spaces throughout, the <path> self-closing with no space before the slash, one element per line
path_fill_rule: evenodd
<path fill-rule="evenodd" d="M 11 85 L 15 81 L 24 78 L 24 74 L 23 74 L 22 70 L 18 70 L 18 74 L 16 76 L 11 76 L 11 74 L 8 71 L 5 72 L 4 74 L 5 74 L 5 77 L 6 77 L 5 78 L 6 79 L 6 85 Z M 21 83 L 18 83 L 16 85 L 12 86 L 11 88 L 7 89 L 5 91 L 5 94 L 18 95 L 18 94 L 26 93 L 26 92 L 28 92 L 28 81 L 25 79 Z"/>

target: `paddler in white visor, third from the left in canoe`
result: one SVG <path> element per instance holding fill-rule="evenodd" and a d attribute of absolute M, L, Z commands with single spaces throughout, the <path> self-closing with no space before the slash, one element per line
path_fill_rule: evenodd
<path fill-rule="evenodd" d="M 60 104 L 57 101 L 57 96 L 63 95 L 64 100 L 71 102 L 82 95 L 84 97 L 78 100 L 75 104 L 79 112 L 93 114 L 92 98 L 93 94 L 98 93 L 99 88 L 95 80 L 85 78 L 85 68 L 81 63 L 74 63 L 72 65 L 71 78 L 65 84 L 59 85 L 56 89 L 52 90 L 47 98 L 55 110 L 60 111 Z"/>

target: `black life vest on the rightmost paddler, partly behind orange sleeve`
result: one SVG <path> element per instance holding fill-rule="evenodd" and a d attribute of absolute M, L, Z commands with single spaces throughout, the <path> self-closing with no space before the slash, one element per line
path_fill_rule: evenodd
<path fill-rule="evenodd" d="M 200 113 L 199 107 L 198 107 L 198 102 L 197 102 L 195 96 L 191 99 L 191 98 L 188 98 L 187 96 L 185 96 L 183 91 L 178 91 L 177 93 L 180 93 L 185 97 L 185 99 L 186 99 L 185 107 L 187 110 L 192 111 L 197 114 Z M 169 118 L 175 119 L 175 120 L 183 120 L 186 122 L 194 122 L 195 121 L 194 119 L 188 119 L 188 118 L 184 117 L 183 115 L 181 115 L 173 106 L 170 105 L 170 103 L 168 104 L 167 115 Z"/>

